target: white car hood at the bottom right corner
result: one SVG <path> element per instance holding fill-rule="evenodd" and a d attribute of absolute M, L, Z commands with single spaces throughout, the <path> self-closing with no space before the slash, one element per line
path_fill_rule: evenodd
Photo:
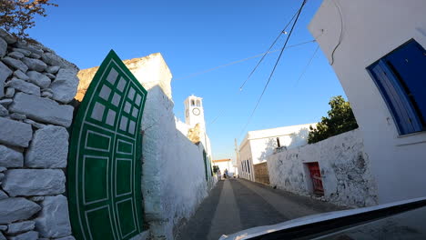
<path fill-rule="evenodd" d="M 426 239 L 426 197 L 304 216 L 219 238 L 225 239 Z"/>

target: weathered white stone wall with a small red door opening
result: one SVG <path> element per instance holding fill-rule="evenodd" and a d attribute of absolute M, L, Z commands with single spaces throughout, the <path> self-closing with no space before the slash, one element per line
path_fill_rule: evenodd
<path fill-rule="evenodd" d="M 270 185 L 310 195 L 312 182 L 304 164 L 311 162 L 320 165 L 325 200 L 346 206 L 377 205 L 377 186 L 359 129 L 269 155 Z"/>

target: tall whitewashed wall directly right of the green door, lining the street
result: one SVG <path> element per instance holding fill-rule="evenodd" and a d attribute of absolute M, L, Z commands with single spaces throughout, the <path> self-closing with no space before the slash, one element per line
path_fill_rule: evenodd
<path fill-rule="evenodd" d="M 142 119 L 144 211 L 153 239 L 174 239 L 178 227 L 208 195 L 214 179 L 206 180 L 203 146 L 194 145 L 177 129 L 166 63 L 159 54 L 151 57 L 160 60 L 150 67 L 167 70 L 156 74 L 157 83 L 149 75 L 137 78 L 148 92 Z M 139 66 L 132 72 L 143 71 L 144 66 Z"/>

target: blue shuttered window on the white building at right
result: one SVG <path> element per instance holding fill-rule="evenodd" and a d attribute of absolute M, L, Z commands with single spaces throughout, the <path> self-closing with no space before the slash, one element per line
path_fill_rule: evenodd
<path fill-rule="evenodd" d="M 426 51 L 415 40 L 367 67 L 400 135 L 426 130 Z"/>

